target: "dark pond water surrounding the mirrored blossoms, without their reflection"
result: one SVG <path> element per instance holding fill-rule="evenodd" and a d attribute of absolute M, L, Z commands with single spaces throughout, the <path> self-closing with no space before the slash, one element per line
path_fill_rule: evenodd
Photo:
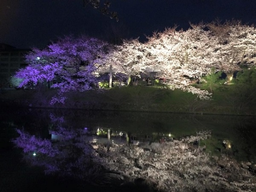
<path fill-rule="evenodd" d="M 83 130 L 106 138 L 158 142 L 179 139 L 211 130 L 210 140 L 201 141 L 212 154 L 227 153 L 237 160 L 256 160 L 256 119 L 253 116 L 209 116 L 173 113 L 113 111 L 2 109 L 0 116 L 0 191 L 150 191 L 142 182 L 124 186 L 94 186 L 72 176 L 45 175 L 40 166 L 29 166 L 21 148 L 10 140 L 20 129 L 36 138 L 52 140 L 58 128 Z M 65 130 L 66 130 L 65 129 Z M 58 137 L 58 136 L 56 136 Z M 135 141 L 134 141 L 135 142 Z M 26 158 L 25 158 L 26 159 Z"/>

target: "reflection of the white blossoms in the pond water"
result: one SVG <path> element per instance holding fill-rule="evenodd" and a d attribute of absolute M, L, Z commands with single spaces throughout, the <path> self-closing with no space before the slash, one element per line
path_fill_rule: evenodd
<path fill-rule="evenodd" d="M 256 178 L 235 160 L 225 155 L 215 159 L 204 152 L 204 147 L 189 144 L 209 137 L 210 132 L 199 132 L 197 136 L 162 144 L 102 145 L 97 152 L 108 169 L 122 172 L 131 180 L 143 178 L 160 191 L 255 190 L 252 181 Z"/>

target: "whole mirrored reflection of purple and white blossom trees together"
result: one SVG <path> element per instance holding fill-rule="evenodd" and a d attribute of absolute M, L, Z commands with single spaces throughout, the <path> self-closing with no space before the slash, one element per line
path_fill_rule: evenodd
<path fill-rule="evenodd" d="M 32 121 L 34 128 L 17 129 L 20 136 L 13 140 L 23 149 L 26 162 L 44 167 L 46 174 L 108 187 L 140 183 L 163 192 L 256 190 L 253 164 L 239 163 L 228 152 L 235 148 L 236 137 L 227 139 L 224 134 L 219 140 L 207 128 L 196 131 L 192 124 L 193 134 L 188 136 L 185 128 L 186 137 L 182 137 L 182 131 L 168 129 L 163 119 L 154 118 L 152 125 L 145 123 L 147 126 L 142 127 L 140 123 L 140 129 L 121 127 L 116 122 L 108 126 L 109 116 L 102 122 L 88 118 L 89 123 L 74 121 L 77 116 L 54 113 L 49 113 L 48 118 L 50 123 L 38 125 Z"/>

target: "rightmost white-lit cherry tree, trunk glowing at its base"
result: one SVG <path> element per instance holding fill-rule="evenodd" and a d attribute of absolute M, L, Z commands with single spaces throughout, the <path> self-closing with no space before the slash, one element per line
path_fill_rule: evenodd
<path fill-rule="evenodd" d="M 251 67 L 256 64 L 256 29 L 254 26 L 242 25 L 241 21 L 232 20 L 221 23 L 216 20 L 208 23 L 215 47 L 212 58 L 215 58 L 215 67 L 228 75 L 232 80 L 233 73 L 242 67 Z"/>

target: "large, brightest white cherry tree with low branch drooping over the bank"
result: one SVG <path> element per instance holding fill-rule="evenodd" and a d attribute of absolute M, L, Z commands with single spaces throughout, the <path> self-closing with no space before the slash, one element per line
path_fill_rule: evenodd
<path fill-rule="evenodd" d="M 212 47 L 208 45 L 208 36 L 209 32 L 197 26 L 187 31 L 169 28 L 148 37 L 145 47 L 150 52 L 151 64 L 161 70 L 159 75 L 169 79 L 172 87 L 206 98 L 209 93 L 189 85 L 191 78 L 200 79 L 210 71 L 212 61 L 207 55 Z"/>

